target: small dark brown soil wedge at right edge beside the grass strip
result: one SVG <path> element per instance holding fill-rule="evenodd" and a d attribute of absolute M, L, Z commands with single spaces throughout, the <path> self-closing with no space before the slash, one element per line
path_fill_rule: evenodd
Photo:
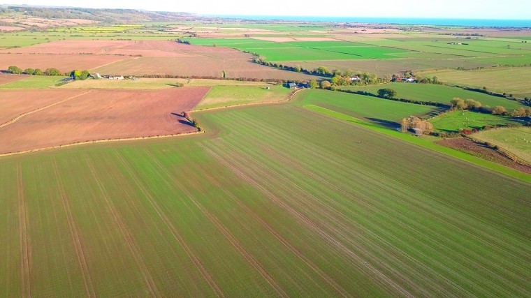
<path fill-rule="evenodd" d="M 528 167 L 527 165 L 521 165 L 520 163 L 516 163 L 516 161 L 513 161 L 510 158 L 507 158 L 506 156 L 500 154 L 500 152 L 494 149 L 490 149 L 488 147 L 482 146 L 480 144 L 472 142 L 471 140 L 467 140 L 463 137 L 441 140 L 441 141 L 438 141 L 437 144 L 441 144 L 442 146 L 450 147 L 453 149 L 458 149 L 459 151 L 464 151 L 474 156 L 485 158 L 488 161 L 500 163 L 502 165 L 505 165 L 507 167 L 512 167 L 521 172 L 531 174 L 531 167 Z"/>

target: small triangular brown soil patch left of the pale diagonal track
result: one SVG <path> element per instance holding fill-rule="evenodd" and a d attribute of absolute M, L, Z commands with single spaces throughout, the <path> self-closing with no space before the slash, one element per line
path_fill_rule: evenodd
<path fill-rule="evenodd" d="M 58 103 L 86 91 L 81 90 L 3 90 L 0 91 L 0 126 L 20 114 Z"/>

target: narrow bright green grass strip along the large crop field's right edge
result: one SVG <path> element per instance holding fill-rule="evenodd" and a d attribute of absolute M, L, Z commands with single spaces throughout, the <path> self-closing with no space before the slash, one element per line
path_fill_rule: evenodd
<path fill-rule="evenodd" d="M 443 147 L 438 144 L 435 144 L 434 142 L 431 142 L 430 140 L 426 140 L 422 137 L 413 137 L 412 135 L 400 133 L 398 131 L 392 131 L 388 128 L 382 128 L 381 126 L 377 126 L 375 124 L 370 124 L 366 121 L 356 119 L 354 117 L 351 117 L 346 114 L 342 114 L 340 112 L 335 112 L 334 110 L 329 110 L 324 107 L 319 107 L 317 105 L 303 105 L 307 110 L 312 110 L 314 112 L 318 112 L 320 114 L 325 114 L 330 117 L 334 117 L 336 119 L 341 119 L 344 121 L 349 121 L 353 124 L 356 124 L 358 126 L 363 126 L 365 128 L 369 128 L 372 131 L 377 131 L 379 133 L 384 133 L 386 135 L 389 135 L 391 137 L 395 137 L 397 139 L 403 140 L 405 142 L 409 142 L 412 144 L 416 144 L 418 146 L 437 151 L 442 154 L 446 154 L 455 158 L 459 158 L 463 161 L 468 161 L 469 163 L 474 163 L 475 165 L 479 165 L 481 167 L 486 167 L 489 170 L 493 170 L 495 172 L 500 172 L 502 174 L 506 174 L 507 176 L 511 176 L 517 179 L 521 179 L 526 182 L 531 183 L 531 175 L 525 174 L 523 172 L 518 172 L 517 170 L 513 170 L 509 167 L 504 167 L 503 165 L 498 165 L 497 163 L 493 163 L 491 161 L 486 161 L 482 158 L 478 158 L 476 156 L 472 156 L 470 154 L 466 154 L 464 152 L 458 151 L 456 149 L 451 149 L 448 147 Z"/>

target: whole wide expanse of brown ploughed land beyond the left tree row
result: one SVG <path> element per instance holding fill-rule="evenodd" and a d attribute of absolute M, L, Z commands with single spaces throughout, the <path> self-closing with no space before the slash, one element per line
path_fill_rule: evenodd
<path fill-rule="evenodd" d="M 7 52 L 13 54 L 1 54 Z M 314 78 L 303 73 L 254 64 L 252 59 L 251 54 L 226 47 L 183 45 L 168 40 L 58 40 L 0 50 L 0 69 L 16 65 L 22 69 L 88 69 L 101 75 L 225 75 L 229 78 L 282 80 Z"/>

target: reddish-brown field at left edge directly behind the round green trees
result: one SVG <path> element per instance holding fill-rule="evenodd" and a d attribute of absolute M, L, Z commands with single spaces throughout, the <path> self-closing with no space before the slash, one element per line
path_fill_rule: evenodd
<path fill-rule="evenodd" d="M 0 54 L 0 70 L 9 66 L 24 68 L 57 68 L 61 71 L 92 69 L 131 57 L 112 55 L 70 55 L 70 54 Z"/>

